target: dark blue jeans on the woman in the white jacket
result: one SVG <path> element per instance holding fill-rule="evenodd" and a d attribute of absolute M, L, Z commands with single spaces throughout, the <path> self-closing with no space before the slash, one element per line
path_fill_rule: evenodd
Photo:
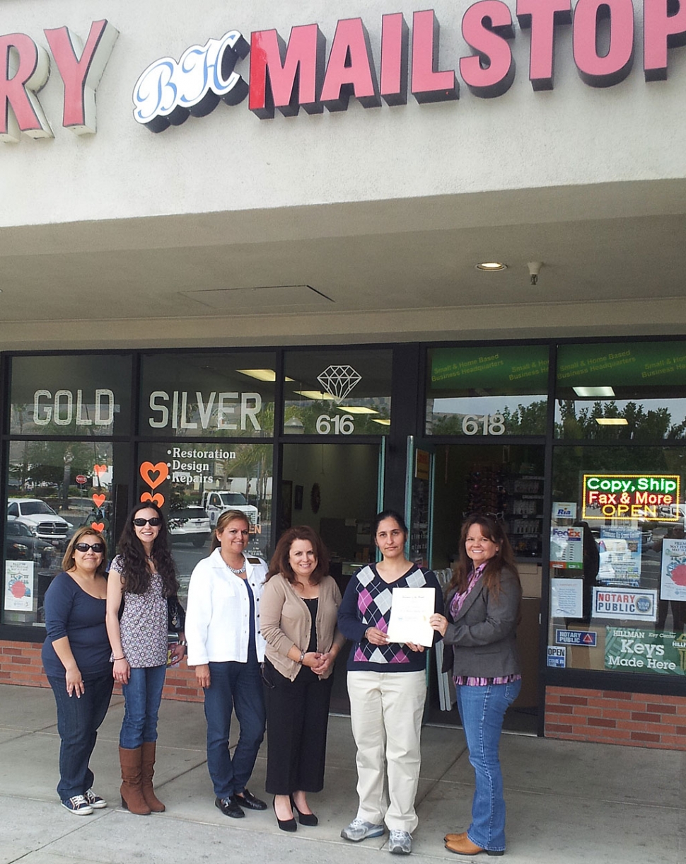
<path fill-rule="evenodd" d="M 257 658 L 247 663 L 210 663 L 210 686 L 205 689 L 207 769 L 218 798 L 245 790 L 264 739 L 264 692 Z M 240 735 L 229 752 L 231 715 L 235 708 Z"/>

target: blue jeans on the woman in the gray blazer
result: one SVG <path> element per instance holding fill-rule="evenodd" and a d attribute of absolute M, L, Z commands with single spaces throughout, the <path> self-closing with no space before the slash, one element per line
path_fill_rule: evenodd
<path fill-rule="evenodd" d="M 498 749 L 505 711 L 519 695 L 521 681 L 457 688 L 457 707 L 467 738 L 475 789 L 467 837 L 482 849 L 505 849 L 505 798 Z"/>

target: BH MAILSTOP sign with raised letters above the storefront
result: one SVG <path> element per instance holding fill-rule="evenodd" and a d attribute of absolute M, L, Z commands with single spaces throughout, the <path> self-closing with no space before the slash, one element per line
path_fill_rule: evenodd
<path fill-rule="evenodd" d="M 644 0 L 643 58 L 646 81 L 667 77 L 667 49 L 686 45 L 686 0 Z M 532 88 L 552 90 L 556 30 L 571 25 L 575 65 L 593 87 L 618 84 L 631 72 L 635 25 L 632 0 L 517 0 L 521 29 L 530 30 L 529 80 Z M 602 19 L 608 19 L 603 22 Z M 608 48 L 599 53 L 599 28 Z M 493 98 L 509 90 L 515 77 L 510 41 L 515 38 L 510 8 L 502 0 L 480 0 L 462 16 L 461 31 L 471 54 L 458 63 L 461 79 L 474 96 Z M 382 16 L 380 62 L 361 18 L 339 21 L 331 49 L 317 24 L 290 31 L 289 41 L 274 29 L 257 30 L 251 41 L 238 30 L 187 48 L 180 60 L 156 60 L 137 80 L 134 118 L 153 132 L 179 125 L 191 115 L 204 117 L 223 100 L 238 105 L 248 97 L 260 119 L 275 109 L 286 117 L 301 108 L 309 114 L 345 111 L 354 96 L 365 108 L 405 105 L 408 89 L 419 103 L 459 98 L 454 69 L 439 66 L 439 24 L 434 10 Z M 250 83 L 235 69 L 250 53 Z"/>

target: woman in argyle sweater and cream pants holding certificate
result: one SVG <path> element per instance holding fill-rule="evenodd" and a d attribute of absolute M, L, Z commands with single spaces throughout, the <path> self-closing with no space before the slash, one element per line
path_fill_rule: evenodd
<path fill-rule="evenodd" d="M 347 684 L 359 794 L 357 816 L 341 836 L 353 842 L 378 837 L 385 823 L 389 851 L 410 854 L 417 825 L 426 660 L 422 645 L 390 642 L 386 632 L 393 588 L 432 588 L 436 612 L 443 599 L 431 570 L 421 570 L 405 557 L 407 527 L 399 513 L 379 513 L 373 531 L 382 560 L 353 576 L 339 610 L 340 632 L 354 643 Z"/>

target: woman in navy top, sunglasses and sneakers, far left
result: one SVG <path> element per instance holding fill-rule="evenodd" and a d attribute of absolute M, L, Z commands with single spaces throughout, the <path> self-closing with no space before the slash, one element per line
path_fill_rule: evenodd
<path fill-rule="evenodd" d="M 62 805 L 78 816 L 107 802 L 92 791 L 88 763 L 112 693 L 110 642 L 105 628 L 105 538 L 79 528 L 45 593 L 43 667 L 57 703 Z"/>

